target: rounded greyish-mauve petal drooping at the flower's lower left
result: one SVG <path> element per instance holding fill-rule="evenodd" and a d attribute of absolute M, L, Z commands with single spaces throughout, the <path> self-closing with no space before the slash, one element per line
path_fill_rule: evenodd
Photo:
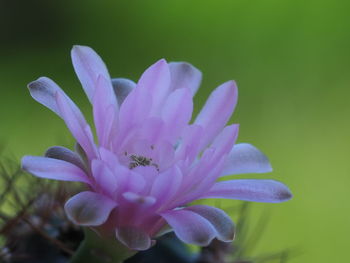
<path fill-rule="evenodd" d="M 68 218 L 81 226 L 99 226 L 107 221 L 117 204 L 94 192 L 81 192 L 70 198 L 64 206 Z"/>

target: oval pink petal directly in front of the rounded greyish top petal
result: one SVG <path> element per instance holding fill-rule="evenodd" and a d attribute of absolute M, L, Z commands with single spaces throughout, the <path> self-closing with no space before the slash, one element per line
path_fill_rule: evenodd
<path fill-rule="evenodd" d="M 191 120 L 193 101 L 189 89 L 173 91 L 162 108 L 162 119 L 165 122 L 164 135 L 170 142 L 176 142 L 183 129 Z"/>

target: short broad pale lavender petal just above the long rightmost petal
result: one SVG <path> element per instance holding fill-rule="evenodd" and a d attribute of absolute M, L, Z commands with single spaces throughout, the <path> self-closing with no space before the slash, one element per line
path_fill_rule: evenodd
<path fill-rule="evenodd" d="M 233 146 L 227 157 L 223 175 L 268 173 L 272 171 L 269 159 L 248 143 Z"/>

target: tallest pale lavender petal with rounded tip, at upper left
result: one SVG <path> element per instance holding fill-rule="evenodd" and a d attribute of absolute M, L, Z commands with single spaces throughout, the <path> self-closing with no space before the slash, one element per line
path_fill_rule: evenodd
<path fill-rule="evenodd" d="M 102 75 L 105 79 L 110 80 L 106 65 L 101 57 L 90 47 L 74 46 L 71 51 L 74 70 L 88 96 L 90 102 L 93 100 L 97 78 Z M 112 83 L 106 88 L 113 89 Z"/>

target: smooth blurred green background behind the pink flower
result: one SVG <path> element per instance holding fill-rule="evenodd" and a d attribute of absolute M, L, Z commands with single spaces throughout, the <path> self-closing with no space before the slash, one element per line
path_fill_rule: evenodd
<path fill-rule="evenodd" d="M 1 0 L 0 141 L 18 159 L 73 144 L 26 89 L 51 77 L 89 115 L 70 62 L 73 44 L 93 47 L 112 76 L 134 80 L 159 58 L 189 61 L 204 75 L 196 112 L 215 86 L 235 79 L 239 141 L 262 149 L 274 167 L 249 177 L 276 178 L 294 193 L 287 203 L 254 205 L 254 214 L 270 214 L 254 255 L 295 248 L 302 253 L 290 262 L 345 262 L 349 11 L 340 0 Z"/>

